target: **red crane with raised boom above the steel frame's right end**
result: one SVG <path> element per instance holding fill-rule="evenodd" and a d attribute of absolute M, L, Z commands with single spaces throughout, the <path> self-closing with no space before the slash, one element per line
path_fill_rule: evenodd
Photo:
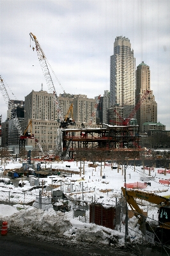
<path fill-rule="evenodd" d="M 128 116 L 128 118 L 123 119 L 119 113 L 117 113 L 116 109 L 114 109 L 114 112 L 116 113 L 116 115 L 120 118 L 121 122 L 116 122 L 116 124 L 118 125 L 123 125 L 123 126 L 127 126 L 128 124 L 130 124 L 130 120 L 132 120 L 132 118 L 134 117 L 136 111 L 140 108 L 141 104 L 144 102 L 144 100 L 146 99 L 146 97 L 148 96 L 148 94 L 151 91 L 146 90 L 146 92 L 143 94 L 143 96 L 141 97 L 141 99 L 139 100 L 139 102 L 135 105 L 135 108 L 132 110 L 132 112 L 130 113 L 130 115 Z M 110 121 L 110 122 L 114 122 L 114 121 Z"/>

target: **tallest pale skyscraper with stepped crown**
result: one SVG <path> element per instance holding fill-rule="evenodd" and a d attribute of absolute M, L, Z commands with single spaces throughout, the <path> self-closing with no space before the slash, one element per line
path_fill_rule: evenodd
<path fill-rule="evenodd" d="M 123 107 L 122 118 L 127 118 L 135 107 L 135 58 L 130 40 L 117 36 L 110 63 L 111 107 Z"/>

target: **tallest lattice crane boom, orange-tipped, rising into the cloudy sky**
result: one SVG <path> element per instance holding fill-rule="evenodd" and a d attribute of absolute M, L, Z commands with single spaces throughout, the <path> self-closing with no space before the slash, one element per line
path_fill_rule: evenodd
<path fill-rule="evenodd" d="M 38 40 L 36 39 L 36 36 L 33 35 L 33 33 L 29 33 L 29 35 L 31 36 L 31 39 L 33 40 L 33 42 L 35 42 L 36 52 L 38 54 L 38 60 L 40 62 L 40 66 L 42 67 L 42 72 L 43 72 L 43 75 L 45 77 L 45 81 L 46 81 L 47 86 L 49 88 L 49 92 L 53 94 L 54 103 L 56 104 L 56 108 L 58 109 L 58 120 L 59 120 L 59 122 L 62 122 L 64 120 L 63 111 L 61 109 L 61 105 L 60 105 L 60 102 L 59 102 L 59 99 L 58 99 L 58 95 L 56 93 L 56 89 L 54 87 L 54 83 L 52 81 L 52 77 L 50 76 L 49 66 L 47 65 L 47 63 L 48 63 L 47 58 L 46 58 Z M 34 49 L 35 48 L 33 47 L 33 51 L 34 51 Z"/>

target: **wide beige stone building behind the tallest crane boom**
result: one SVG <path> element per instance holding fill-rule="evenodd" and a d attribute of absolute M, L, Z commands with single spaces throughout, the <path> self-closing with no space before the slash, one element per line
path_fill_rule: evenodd
<path fill-rule="evenodd" d="M 91 113 L 95 106 L 95 99 L 88 99 L 86 95 L 70 95 L 63 93 L 58 97 L 63 117 L 66 116 L 70 105 L 73 104 L 73 120 L 76 127 L 81 127 L 82 122 L 90 122 Z M 34 90 L 25 98 L 25 120 L 22 122 L 22 129 L 27 127 L 29 120 L 32 120 L 32 132 L 38 140 L 43 151 L 54 150 L 56 137 L 60 123 L 58 122 L 58 110 L 54 103 L 52 93 Z M 38 148 L 35 140 L 27 139 L 26 146 Z"/>

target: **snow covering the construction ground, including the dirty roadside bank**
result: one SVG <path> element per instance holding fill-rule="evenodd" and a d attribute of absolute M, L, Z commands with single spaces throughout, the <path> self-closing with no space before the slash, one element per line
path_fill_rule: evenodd
<path fill-rule="evenodd" d="M 149 170 L 143 170 L 142 166 L 127 166 L 125 176 L 125 166 L 120 166 L 120 170 L 118 168 L 112 170 L 109 163 L 106 163 L 105 166 L 102 163 L 102 168 L 100 163 L 97 163 L 97 168 L 88 167 L 88 164 L 88 162 L 85 162 L 84 175 L 73 174 L 73 172 L 80 171 L 79 168 L 83 166 L 82 163 L 56 162 L 47 164 L 47 168 L 62 169 L 65 172 L 66 170 L 72 171 L 72 175 L 66 177 L 52 175 L 52 177 L 39 179 L 40 182 L 43 180 L 43 183 L 45 183 L 43 193 L 50 193 L 52 187 L 58 186 L 56 190 L 63 190 L 65 195 L 72 200 L 84 200 L 88 204 L 95 200 L 96 203 L 102 203 L 104 207 L 109 207 L 108 205 L 115 206 L 116 198 L 121 198 L 121 187 L 125 186 L 126 179 L 127 186 L 135 184 L 140 189 L 140 186 L 143 187 L 144 182 L 147 182 L 151 186 L 145 186 L 146 188 L 142 188 L 142 191 L 153 192 L 160 196 L 170 196 L 168 184 L 159 182 L 160 180 L 170 179 L 170 173 L 167 173 L 167 175 L 158 173 L 158 169 L 161 168 L 151 170 L 149 175 Z M 66 165 L 69 165 L 70 168 Z M 20 168 L 21 166 L 20 163 L 8 163 L 6 169 L 13 170 L 13 168 Z M 42 164 L 42 168 L 44 166 L 45 164 Z M 114 163 L 114 166 L 117 166 L 117 164 Z M 29 191 L 31 188 L 30 182 L 24 181 L 24 183 L 24 187 L 20 188 L 13 185 L 4 185 L 3 182 L 0 182 L 0 201 L 4 200 L 3 196 L 6 193 L 6 202 L 8 202 L 9 193 L 10 202 L 14 204 L 13 206 L 0 205 L 0 221 L 7 221 L 8 228 L 12 232 L 34 237 L 65 237 L 75 243 L 78 241 L 89 243 L 95 241 L 108 244 L 108 239 L 112 240 L 114 246 L 115 244 L 121 246 L 125 243 L 125 225 L 123 224 L 117 230 L 112 230 L 88 223 L 88 218 L 86 223 L 79 221 L 79 218 L 73 218 L 72 210 L 69 212 L 54 211 L 53 207 L 49 205 L 47 210 L 44 211 L 27 205 L 27 203 L 36 199 L 42 189 Z M 148 211 L 150 218 L 154 216 L 154 219 L 157 219 L 157 208 L 153 205 L 146 202 L 146 204 L 143 204 L 143 210 Z M 129 222 L 131 222 L 132 228 L 137 230 L 135 217 L 130 219 Z M 136 234 L 131 236 L 131 240 L 139 239 Z"/>

